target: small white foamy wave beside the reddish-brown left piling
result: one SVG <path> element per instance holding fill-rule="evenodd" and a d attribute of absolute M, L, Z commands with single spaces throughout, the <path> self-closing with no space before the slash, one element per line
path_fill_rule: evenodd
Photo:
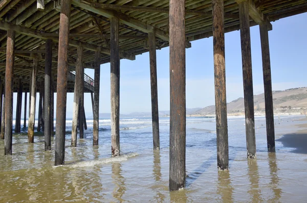
<path fill-rule="evenodd" d="M 70 168 L 92 167 L 92 166 L 101 165 L 101 164 L 127 161 L 129 158 L 136 157 L 138 155 L 139 155 L 138 153 L 131 153 L 127 155 L 121 155 L 118 157 L 104 158 L 104 159 L 91 160 L 91 161 L 79 161 L 79 162 L 70 163 L 70 164 L 66 164 L 62 166 L 70 167 Z"/>

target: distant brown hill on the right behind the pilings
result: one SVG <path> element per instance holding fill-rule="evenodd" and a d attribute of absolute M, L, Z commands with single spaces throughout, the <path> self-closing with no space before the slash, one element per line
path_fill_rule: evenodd
<path fill-rule="evenodd" d="M 307 87 L 293 88 L 284 91 L 273 91 L 274 114 L 305 114 L 307 110 Z M 256 115 L 265 114 L 265 94 L 254 95 Z M 227 103 L 230 115 L 244 115 L 244 98 L 240 97 Z M 208 106 L 192 114 L 214 115 L 215 106 Z"/>

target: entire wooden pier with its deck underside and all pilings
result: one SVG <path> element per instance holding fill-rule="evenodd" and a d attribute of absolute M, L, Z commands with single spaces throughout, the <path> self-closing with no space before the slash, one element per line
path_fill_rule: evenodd
<path fill-rule="evenodd" d="M 298 1 L 252 0 L 1 0 L 0 123 L 5 155 L 12 155 L 12 134 L 20 132 L 25 97 L 28 142 L 34 126 L 51 150 L 56 105 L 55 165 L 65 161 L 67 93 L 74 92 L 71 147 L 86 129 L 84 93 L 91 93 L 93 145 L 99 145 L 100 65 L 110 63 L 111 149 L 120 156 L 120 60 L 149 52 L 153 150 L 160 149 L 156 50 L 170 48 L 169 189 L 184 188 L 186 178 L 186 48 L 213 37 L 217 169 L 229 169 L 225 33 L 240 30 L 247 159 L 256 159 L 250 27 L 258 26 L 262 50 L 268 151 L 275 153 L 269 31 L 271 22 L 307 12 Z M 205 47 L 204 47 L 205 48 Z M 202 64 L 200 64 L 202 65 Z M 94 79 L 84 69 L 94 69 Z M 133 71 L 133 70 L 131 70 Z M 13 92 L 17 93 L 13 126 Z M 28 94 L 29 93 L 29 94 Z M 39 104 L 36 94 L 39 93 Z M 54 101 L 56 93 L 56 101 Z M 29 96 L 27 96 L 29 95 Z M 27 100 L 28 98 L 28 100 Z M 29 102 L 29 103 L 27 103 Z M 36 105 L 39 111 L 35 112 Z M 29 115 L 26 115 L 29 107 Z M 38 123 L 35 115 L 38 114 Z M 78 124 L 79 123 L 79 124 Z M 26 127 L 26 124 L 24 124 Z M 15 155 L 13 155 L 15 156 Z M 16 155 L 17 156 L 17 155 Z M 231 168 L 229 169 L 231 170 Z"/>

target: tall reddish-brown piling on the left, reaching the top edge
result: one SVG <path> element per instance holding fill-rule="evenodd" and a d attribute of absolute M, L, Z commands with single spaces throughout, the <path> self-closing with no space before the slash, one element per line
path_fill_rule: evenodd
<path fill-rule="evenodd" d="M 56 94 L 56 136 L 54 161 L 54 165 L 56 166 L 64 164 L 65 157 L 65 122 L 70 10 L 71 0 L 61 0 Z"/>

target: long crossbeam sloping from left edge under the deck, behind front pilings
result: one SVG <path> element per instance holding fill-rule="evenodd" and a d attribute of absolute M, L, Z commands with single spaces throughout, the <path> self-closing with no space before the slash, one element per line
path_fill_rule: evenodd
<path fill-rule="evenodd" d="M 9 22 L 4 22 L 4 21 L 0 21 L 0 29 L 1 30 L 14 30 L 17 33 L 26 35 L 26 36 L 30 36 L 30 37 L 35 37 L 35 38 L 39 38 L 39 39 L 52 39 L 55 42 L 59 42 L 59 39 L 56 37 L 45 37 L 43 36 L 44 34 L 40 34 L 40 32 L 38 30 L 33 30 L 30 28 L 26 28 L 26 27 L 22 27 L 22 26 L 17 26 L 15 24 L 9 23 Z M 78 46 L 82 46 L 85 49 L 88 50 L 92 50 L 95 51 L 98 49 L 98 46 L 93 45 L 93 44 L 89 44 L 89 43 L 84 43 L 84 42 L 80 42 L 80 41 L 75 41 L 70 39 L 69 40 L 69 45 L 73 46 L 73 47 L 78 47 Z M 102 54 L 106 54 L 106 55 L 110 55 L 110 51 L 107 48 L 103 48 L 100 47 L 100 53 Z M 134 55 L 130 55 L 130 54 L 126 54 L 126 53 L 120 53 L 120 57 L 125 58 L 125 59 L 129 59 L 129 60 L 135 60 L 136 57 Z"/>

